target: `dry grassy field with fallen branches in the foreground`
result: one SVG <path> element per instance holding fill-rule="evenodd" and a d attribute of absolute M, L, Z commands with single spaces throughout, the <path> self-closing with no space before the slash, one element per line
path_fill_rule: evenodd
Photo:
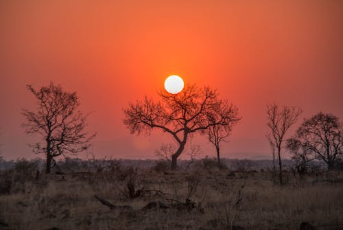
<path fill-rule="evenodd" d="M 204 168 L 13 174 L 1 175 L 12 188 L 0 196 L 0 229 L 343 229 L 342 172 L 286 172 L 283 187 L 270 172 Z"/>

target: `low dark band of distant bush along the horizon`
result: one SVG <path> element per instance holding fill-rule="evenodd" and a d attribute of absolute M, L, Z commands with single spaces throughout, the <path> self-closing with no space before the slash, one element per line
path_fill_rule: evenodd
<path fill-rule="evenodd" d="M 169 164 L 163 160 L 154 160 L 154 159 L 78 159 L 78 158 L 69 158 L 60 159 L 57 161 L 57 166 L 54 167 L 54 172 L 78 172 L 85 169 L 88 169 L 90 166 L 96 170 L 97 168 L 106 167 L 113 163 L 113 161 L 120 163 L 123 166 L 134 167 L 134 168 L 152 168 L 156 170 L 169 170 Z M 208 168 L 216 168 L 217 160 L 210 157 L 205 157 L 203 159 L 197 159 L 193 161 L 193 165 L 202 164 Z M 191 160 L 180 160 L 180 165 L 189 165 Z M 221 159 L 222 168 L 225 168 L 229 171 L 238 171 L 238 172 L 249 172 L 249 171 L 272 171 L 273 161 L 268 159 L 263 160 L 250 160 L 250 159 Z M 297 161 L 294 159 L 285 159 L 283 161 L 283 168 L 287 171 L 296 172 Z M 189 166 L 191 168 L 192 165 Z M 36 159 L 17 159 L 17 160 L 1 160 L 0 161 L 0 170 L 12 170 L 14 168 L 31 168 L 32 170 L 43 170 L 45 168 L 45 160 L 36 158 Z M 326 165 L 320 161 L 311 161 L 308 165 L 309 170 L 322 171 L 326 169 Z"/>

